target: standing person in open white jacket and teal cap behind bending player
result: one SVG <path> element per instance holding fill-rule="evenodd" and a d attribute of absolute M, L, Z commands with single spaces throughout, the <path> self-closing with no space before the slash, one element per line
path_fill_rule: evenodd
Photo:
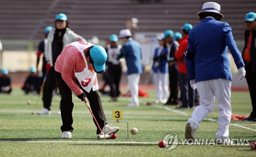
<path fill-rule="evenodd" d="M 52 92 L 57 87 L 54 77 L 54 65 L 57 57 L 60 55 L 69 43 L 74 41 L 86 42 L 81 36 L 75 34 L 69 29 L 68 17 L 65 14 L 57 14 L 55 17 L 55 28 L 51 29 L 47 37 L 47 45 L 45 47 L 45 56 L 47 60 L 48 76 L 42 92 L 42 101 L 44 108 L 38 111 L 39 115 L 51 114 Z M 61 114 L 59 109 L 58 114 Z"/>

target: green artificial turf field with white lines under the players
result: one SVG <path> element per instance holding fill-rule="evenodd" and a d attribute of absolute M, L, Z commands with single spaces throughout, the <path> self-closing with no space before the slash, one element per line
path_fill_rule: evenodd
<path fill-rule="evenodd" d="M 125 91 L 123 91 L 125 92 Z M 137 135 L 129 132 L 126 123 L 110 123 L 119 126 L 116 139 L 97 140 L 96 126 L 84 104 L 73 96 L 72 139 L 60 139 L 61 117 L 57 115 L 60 97 L 55 95 L 52 115 L 32 115 L 37 95 L 25 95 L 14 88 L 11 95 L 0 95 L 0 156 L 255 156 L 248 144 L 243 145 L 194 145 L 182 144 L 185 125 L 193 110 L 175 110 L 175 106 L 163 104 L 146 105 L 156 99 L 155 90 L 147 90 L 149 98 L 140 98 L 139 108 L 127 108 L 129 97 L 119 97 L 118 102 L 108 102 L 102 96 L 103 109 L 108 121 L 112 111 L 122 110 L 123 121 L 129 121 L 129 130 L 138 129 Z M 31 100 L 31 104 L 27 104 Z M 248 115 L 251 112 L 249 92 L 232 92 L 232 114 Z M 37 111 L 41 110 L 41 97 Z M 215 139 L 218 129 L 217 107 L 196 132 L 196 138 Z M 177 134 L 178 146 L 172 150 L 159 148 L 158 142 L 168 134 Z M 232 120 L 230 139 L 256 141 L 256 122 Z M 209 142 L 209 141 L 208 141 Z"/>

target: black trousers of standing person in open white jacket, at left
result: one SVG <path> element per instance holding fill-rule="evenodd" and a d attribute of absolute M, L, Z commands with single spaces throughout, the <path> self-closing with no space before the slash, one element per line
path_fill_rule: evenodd
<path fill-rule="evenodd" d="M 44 102 L 44 108 L 48 110 L 50 110 L 52 103 L 52 92 L 57 87 L 54 71 L 54 67 L 51 67 L 47 75 L 44 89 L 42 91 L 42 101 Z"/>

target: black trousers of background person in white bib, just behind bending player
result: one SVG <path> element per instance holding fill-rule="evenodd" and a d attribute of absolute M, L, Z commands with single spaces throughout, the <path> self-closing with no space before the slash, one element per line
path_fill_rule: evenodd
<path fill-rule="evenodd" d="M 122 67 L 121 65 L 110 65 L 108 67 L 108 80 L 110 85 L 110 96 L 118 97 L 120 94 L 119 84 L 121 80 Z"/>

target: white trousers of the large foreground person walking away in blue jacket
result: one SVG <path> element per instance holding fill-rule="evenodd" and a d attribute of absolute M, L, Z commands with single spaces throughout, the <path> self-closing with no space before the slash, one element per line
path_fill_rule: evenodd
<path fill-rule="evenodd" d="M 228 138 L 228 127 L 231 120 L 231 81 L 226 79 L 215 79 L 197 82 L 200 105 L 197 106 L 188 121 L 195 124 L 195 129 L 199 129 L 199 122 L 207 117 L 215 109 L 215 97 L 219 111 L 219 128 L 216 137 L 219 139 Z"/>

